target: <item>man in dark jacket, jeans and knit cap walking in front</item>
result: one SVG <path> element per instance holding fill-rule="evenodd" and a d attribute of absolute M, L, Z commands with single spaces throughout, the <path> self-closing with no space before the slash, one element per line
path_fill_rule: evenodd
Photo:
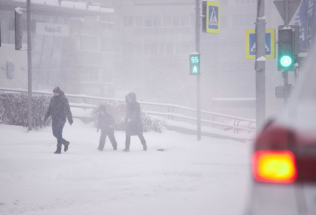
<path fill-rule="evenodd" d="M 49 116 L 52 116 L 52 131 L 54 137 L 57 138 L 57 150 L 54 154 L 61 154 L 61 146 L 64 145 L 64 152 L 66 152 L 70 144 L 69 141 L 63 138 L 63 128 L 66 123 L 66 118 L 68 118 L 70 125 L 73 123 L 73 120 L 69 102 L 65 97 L 64 92 L 60 90 L 59 87 L 55 87 L 53 93 L 54 96 L 51 98 L 44 120 L 47 120 Z"/>

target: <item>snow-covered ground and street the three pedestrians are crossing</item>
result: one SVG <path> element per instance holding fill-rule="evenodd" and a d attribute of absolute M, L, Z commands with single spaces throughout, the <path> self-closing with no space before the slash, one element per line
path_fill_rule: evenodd
<path fill-rule="evenodd" d="M 100 132 L 74 119 L 63 136 L 69 150 L 53 154 L 51 127 L 0 125 L 0 214 L 242 215 L 250 190 L 251 143 L 174 131 L 138 137 L 116 131 L 97 151 Z M 165 151 L 157 151 L 165 148 Z"/>

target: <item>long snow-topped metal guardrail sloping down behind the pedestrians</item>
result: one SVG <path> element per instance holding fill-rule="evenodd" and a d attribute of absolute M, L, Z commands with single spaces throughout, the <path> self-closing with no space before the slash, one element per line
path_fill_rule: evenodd
<path fill-rule="evenodd" d="M 9 92 L 27 93 L 27 90 L 24 90 L 24 89 L 0 88 L 0 90 L 2 90 L 2 91 L 9 91 Z M 52 92 L 38 91 L 38 90 L 32 90 L 32 93 L 33 94 L 41 94 L 41 95 L 50 95 L 50 96 L 53 95 Z M 87 95 L 84 95 L 84 94 L 82 94 L 82 95 L 65 94 L 65 96 L 83 99 L 84 103 L 70 103 L 70 106 L 71 107 L 82 107 L 84 109 L 95 107 L 94 105 L 86 104 L 86 99 L 94 99 L 94 100 L 101 100 L 101 101 L 112 101 L 112 102 L 117 101 L 117 102 L 125 103 L 125 99 L 113 99 L 113 98 L 106 98 L 106 97 L 99 97 L 99 96 L 87 96 Z M 160 107 L 167 107 L 168 108 L 168 112 L 167 113 L 166 112 L 155 112 L 155 111 L 147 110 L 146 113 L 148 113 L 150 115 L 166 116 L 166 117 L 168 117 L 168 119 L 172 119 L 172 120 L 173 120 L 173 118 L 180 118 L 180 119 L 188 119 L 188 120 L 192 120 L 192 121 L 197 121 L 197 118 L 181 115 L 181 114 L 178 114 L 178 113 L 173 113 L 175 108 L 196 112 L 197 109 L 195 109 L 195 108 L 185 107 L 185 106 L 180 106 L 180 105 L 174 105 L 174 104 L 163 104 L 163 103 L 154 103 L 154 102 L 140 102 L 140 101 L 138 101 L 138 102 L 140 104 L 143 104 L 143 105 L 160 106 Z M 201 113 L 205 113 L 205 114 L 209 114 L 209 115 L 213 116 L 213 120 L 201 119 L 202 122 L 208 123 L 208 124 L 212 124 L 213 127 L 215 125 L 223 126 L 223 127 L 226 127 L 226 128 L 231 128 L 231 129 L 234 130 L 234 132 L 237 132 L 237 133 L 238 133 L 238 131 L 241 131 L 241 130 L 248 131 L 248 132 L 256 131 L 256 129 L 250 128 L 250 125 L 256 123 L 256 120 L 254 120 L 254 119 L 247 119 L 247 118 L 236 117 L 236 116 L 226 115 L 226 114 L 222 114 L 222 113 L 215 113 L 215 112 L 203 111 L 203 110 L 201 111 Z M 221 123 L 221 122 L 216 122 L 216 121 L 214 121 L 215 117 L 222 117 L 222 118 L 226 118 L 226 119 L 232 119 L 232 120 L 234 120 L 234 123 L 233 123 L 233 125 L 229 125 L 229 124 L 225 124 L 225 123 Z M 239 126 L 240 122 L 248 123 L 248 128 L 240 127 Z"/>

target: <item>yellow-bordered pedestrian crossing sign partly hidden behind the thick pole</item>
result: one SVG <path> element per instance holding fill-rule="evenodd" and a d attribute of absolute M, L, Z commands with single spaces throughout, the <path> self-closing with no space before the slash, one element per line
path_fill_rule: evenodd
<path fill-rule="evenodd" d="M 274 59 L 275 52 L 275 29 L 265 29 L 265 58 Z M 246 59 L 256 58 L 256 32 L 255 29 L 246 30 Z"/>

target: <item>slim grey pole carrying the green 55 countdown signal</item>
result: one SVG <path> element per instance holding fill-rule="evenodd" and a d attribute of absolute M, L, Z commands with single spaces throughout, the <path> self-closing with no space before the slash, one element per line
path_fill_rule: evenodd
<path fill-rule="evenodd" d="M 200 0 L 195 0 L 195 51 L 200 53 Z M 197 141 L 201 140 L 201 78 L 197 75 Z"/>

